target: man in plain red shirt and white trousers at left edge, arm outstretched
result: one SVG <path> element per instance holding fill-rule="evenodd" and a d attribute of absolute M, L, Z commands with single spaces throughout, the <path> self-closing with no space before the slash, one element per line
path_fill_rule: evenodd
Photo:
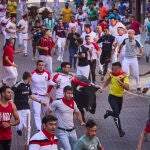
<path fill-rule="evenodd" d="M 4 48 L 3 67 L 8 75 L 3 78 L 3 85 L 6 84 L 8 80 L 12 81 L 12 85 L 14 85 L 17 81 L 18 72 L 17 65 L 14 63 L 14 54 L 22 53 L 23 51 L 15 51 L 13 49 L 14 43 L 15 40 L 10 38 L 8 44 Z"/>

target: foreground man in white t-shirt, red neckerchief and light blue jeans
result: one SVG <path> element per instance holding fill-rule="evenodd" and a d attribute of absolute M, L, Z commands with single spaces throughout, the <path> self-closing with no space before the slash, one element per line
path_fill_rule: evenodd
<path fill-rule="evenodd" d="M 81 113 L 73 100 L 73 89 L 66 86 L 63 89 L 64 97 L 54 101 L 48 108 L 47 114 L 54 112 L 58 118 L 57 136 L 64 150 L 73 150 L 77 141 L 73 117 L 77 116 L 81 125 L 85 125 Z"/>

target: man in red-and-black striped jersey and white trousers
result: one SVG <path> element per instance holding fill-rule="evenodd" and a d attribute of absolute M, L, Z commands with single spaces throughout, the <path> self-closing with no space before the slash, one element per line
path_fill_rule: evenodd
<path fill-rule="evenodd" d="M 45 68 L 52 73 L 52 48 L 57 44 L 53 42 L 50 37 L 50 30 L 46 29 L 44 32 L 44 37 L 42 37 L 36 47 L 39 50 L 39 60 L 43 60 Z"/>

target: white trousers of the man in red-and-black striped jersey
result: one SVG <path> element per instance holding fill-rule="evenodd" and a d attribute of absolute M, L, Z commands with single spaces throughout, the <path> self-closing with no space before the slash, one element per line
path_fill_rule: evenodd
<path fill-rule="evenodd" d="M 39 55 L 39 60 L 43 60 L 45 63 L 45 68 L 52 74 L 52 57 Z"/>

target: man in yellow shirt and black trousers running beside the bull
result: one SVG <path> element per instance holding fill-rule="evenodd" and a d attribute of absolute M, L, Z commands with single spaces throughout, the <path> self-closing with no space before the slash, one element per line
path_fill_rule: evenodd
<path fill-rule="evenodd" d="M 109 77 L 103 84 L 100 92 L 102 93 L 109 84 L 110 91 L 108 102 L 112 110 L 106 111 L 104 119 L 112 116 L 119 131 L 120 137 L 123 137 L 125 135 L 125 132 L 122 130 L 119 115 L 122 109 L 124 89 L 129 90 L 129 79 L 125 72 L 123 72 L 120 62 L 115 62 L 112 64 L 112 71 L 109 73 Z"/>

